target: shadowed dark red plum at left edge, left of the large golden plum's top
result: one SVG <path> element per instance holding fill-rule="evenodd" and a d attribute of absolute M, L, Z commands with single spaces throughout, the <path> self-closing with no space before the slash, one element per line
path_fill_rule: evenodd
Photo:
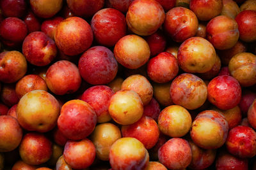
<path fill-rule="evenodd" d="M 1 100 L 7 106 L 13 106 L 19 102 L 19 96 L 15 92 L 15 84 L 3 84 L 0 92 Z"/>

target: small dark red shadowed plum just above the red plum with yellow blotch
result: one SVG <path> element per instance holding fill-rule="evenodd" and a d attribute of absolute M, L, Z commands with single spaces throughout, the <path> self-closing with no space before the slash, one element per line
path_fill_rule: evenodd
<path fill-rule="evenodd" d="M 24 17 L 24 22 L 28 27 L 28 32 L 40 31 L 41 22 L 40 19 L 32 11 L 28 11 L 28 14 Z"/>

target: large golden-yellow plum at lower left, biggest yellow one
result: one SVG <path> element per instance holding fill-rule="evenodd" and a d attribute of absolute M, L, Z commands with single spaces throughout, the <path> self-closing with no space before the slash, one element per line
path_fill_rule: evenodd
<path fill-rule="evenodd" d="M 33 90 L 20 99 L 16 112 L 17 120 L 24 129 L 48 132 L 57 124 L 60 105 L 48 92 Z"/>

